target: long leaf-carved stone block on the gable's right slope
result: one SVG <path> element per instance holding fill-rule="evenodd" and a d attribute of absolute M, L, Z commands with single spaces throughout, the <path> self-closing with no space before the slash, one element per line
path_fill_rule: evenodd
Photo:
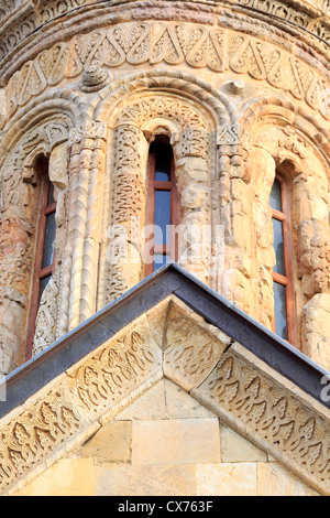
<path fill-rule="evenodd" d="M 330 447 L 324 422 L 294 397 L 284 396 L 274 380 L 257 376 L 254 367 L 229 353 L 201 390 L 239 419 L 244 430 L 278 445 L 282 455 L 328 484 Z"/>

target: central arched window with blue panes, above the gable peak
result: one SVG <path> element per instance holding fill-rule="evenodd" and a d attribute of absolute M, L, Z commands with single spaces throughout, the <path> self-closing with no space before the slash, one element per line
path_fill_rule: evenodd
<path fill-rule="evenodd" d="M 157 138 L 150 147 L 147 166 L 146 225 L 154 226 L 148 249 L 151 260 L 145 274 L 177 260 L 178 242 L 174 229 L 179 222 L 173 149 L 167 137 Z"/>

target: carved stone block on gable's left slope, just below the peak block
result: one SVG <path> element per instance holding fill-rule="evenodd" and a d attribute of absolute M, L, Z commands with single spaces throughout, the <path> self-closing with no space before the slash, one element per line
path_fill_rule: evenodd
<path fill-rule="evenodd" d="M 162 350 L 152 336 L 146 316 L 120 332 L 114 339 L 68 373 L 78 408 L 90 419 L 119 404 L 162 369 Z"/>

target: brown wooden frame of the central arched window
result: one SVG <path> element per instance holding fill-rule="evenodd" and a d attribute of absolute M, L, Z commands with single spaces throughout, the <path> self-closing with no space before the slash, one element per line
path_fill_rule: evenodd
<path fill-rule="evenodd" d="M 156 152 L 161 147 L 168 148 L 170 151 L 170 181 L 157 181 L 156 175 Z M 148 161 L 147 161 L 147 195 L 146 195 L 146 225 L 155 224 L 155 193 L 156 191 L 168 191 L 170 192 L 170 226 L 172 231 L 169 235 L 169 245 L 156 245 L 154 242 L 154 234 L 148 236 L 148 248 L 151 256 L 154 258 L 155 255 L 168 255 L 169 260 L 178 260 L 178 236 L 176 235 L 175 228 L 179 225 L 179 195 L 176 184 L 175 175 L 175 162 L 173 148 L 169 143 L 168 138 L 158 137 L 150 147 Z M 152 242 L 151 242 L 152 241 Z M 150 261 L 145 265 L 145 277 L 154 272 L 154 261 Z"/>

